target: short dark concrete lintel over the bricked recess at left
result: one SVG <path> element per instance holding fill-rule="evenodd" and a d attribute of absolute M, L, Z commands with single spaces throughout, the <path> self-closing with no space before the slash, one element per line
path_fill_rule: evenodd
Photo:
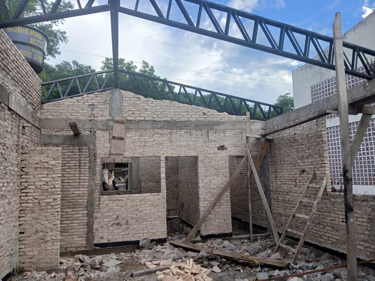
<path fill-rule="evenodd" d="M 95 143 L 95 136 L 91 134 L 72 135 L 40 135 L 40 145 L 45 146 L 89 146 Z"/>

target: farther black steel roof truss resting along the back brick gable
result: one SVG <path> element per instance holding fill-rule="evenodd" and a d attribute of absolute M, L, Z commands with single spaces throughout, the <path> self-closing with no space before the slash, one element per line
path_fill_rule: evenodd
<path fill-rule="evenodd" d="M 203 106 L 234 115 L 250 112 L 252 119 L 267 120 L 282 114 L 282 107 L 192 87 L 127 70 L 119 71 L 119 87 L 154 99 Z M 105 70 L 42 83 L 42 103 L 78 97 L 114 87 L 114 71 Z"/>

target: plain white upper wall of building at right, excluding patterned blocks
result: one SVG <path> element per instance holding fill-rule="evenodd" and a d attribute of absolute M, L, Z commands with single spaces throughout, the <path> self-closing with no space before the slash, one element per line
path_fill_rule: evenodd
<path fill-rule="evenodd" d="M 333 21 L 333 16 L 332 16 Z M 375 11 L 344 35 L 344 41 L 375 50 Z M 335 71 L 305 64 L 292 71 L 295 108 L 311 104 L 310 87 L 334 77 Z"/>

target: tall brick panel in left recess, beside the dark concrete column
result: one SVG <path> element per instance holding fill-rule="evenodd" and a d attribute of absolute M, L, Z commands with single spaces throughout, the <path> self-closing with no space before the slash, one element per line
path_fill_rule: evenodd
<path fill-rule="evenodd" d="M 61 148 L 60 250 L 86 247 L 89 153 L 87 147 Z"/>

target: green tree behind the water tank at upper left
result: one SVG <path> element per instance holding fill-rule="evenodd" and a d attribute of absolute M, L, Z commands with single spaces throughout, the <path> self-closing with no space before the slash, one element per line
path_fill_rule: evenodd
<path fill-rule="evenodd" d="M 8 10 L 9 17 L 12 18 L 14 13 L 16 12 L 18 5 L 21 0 L 5 0 L 5 4 Z M 48 11 L 50 11 L 51 7 L 53 6 L 54 2 L 50 2 L 48 0 L 42 0 L 44 6 Z M 74 4 L 71 1 L 61 1 L 60 6 L 57 11 L 69 11 L 74 8 Z M 33 17 L 43 15 L 42 6 L 39 0 L 30 0 L 22 15 L 21 18 L 25 17 Z M 3 10 L 0 10 L 0 20 L 5 20 L 5 15 Z M 56 57 L 56 55 L 60 54 L 59 45 L 60 43 L 67 43 L 69 41 L 68 36 L 66 35 L 65 31 L 60 29 L 56 29 L 56 26 L 59 23 L 63 23 L 64 19 L 56 19 L 51 20 L 48 22 L 41 22 L 41 23 L 34 23 L 31 26 L 36 27 L 43 31 L 49 37 L 49 43 L 47 45 L 46 55 L 49 57 Z"/>

